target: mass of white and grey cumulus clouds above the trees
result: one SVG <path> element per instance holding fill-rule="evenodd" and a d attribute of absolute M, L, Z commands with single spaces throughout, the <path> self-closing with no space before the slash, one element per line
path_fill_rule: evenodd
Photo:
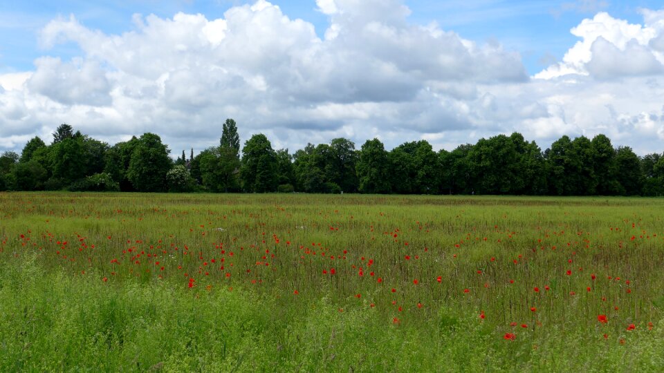
<path fill-rule="evenodd" d="M 232 117 L 243 140 L 262 132 L 291 151 L 340 136 L 358 147 L 379 137 L 388 149 L 420 138 L 449 148 L 512 131 L 543 147 L 595 133 L 661 147 L 664 12 L 642 10 L 643 24 L 585 19 L 564 59 L 531 79 L 517 52 L 411 23 L 403 1 L 315 4 L 329 21 L 324 37 L 264 0 L 219 19 L 134 15 L 119 34 L 54 19 L 40 44 L 48 53 L 73 43 L 80 54 L 0 75 L 0 146 L 48 142 L 67 122 L 111 143 L 158 133 L 179 154 L 217 144 Z"/>

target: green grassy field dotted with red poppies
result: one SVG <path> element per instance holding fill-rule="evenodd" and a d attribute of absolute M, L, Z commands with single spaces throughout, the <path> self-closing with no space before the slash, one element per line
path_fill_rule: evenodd
<path fill-rule="evenodd" d="M 658 371 L 663 211 L 0 193 L 0 371 Z"/>

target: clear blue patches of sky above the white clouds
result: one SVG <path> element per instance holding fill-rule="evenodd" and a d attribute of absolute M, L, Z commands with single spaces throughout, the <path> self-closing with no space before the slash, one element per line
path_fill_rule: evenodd
<path fill-rule="evenodd" d="M 223 17 L 232 6 L 251 3 L 240 0 L 133 0 L 133 1 L 0 1 L 0 71 L 33 68 L 33 60 L 44 54 L 37 34 L 48 21 L 73 14 L 85 26 L 109 33 L 133 29 L 131 16 L 154 14 L 172 17 L 177 12 L 202 13 L 208 19 Z M 328 17 L 317 11 L 313 0 L 273 1 L 284 14 L 315 25 L 322 36 Z M 553 59 L 561 59 L 577 38 L 569 33 L 585 17 L 603 10 L 628 21 L 640 20 L 639 8 L 658 8 L 661 1 L 580 1 L 572 0 L 409 0 L 409 17 L 426 25 L 435 21 L 444 30 L 474 41 L 497 41 L 517 50 L 528 73 L 535 74 Z M 49 55 L 71 57 L 73 45 L 60 45 Z"/>

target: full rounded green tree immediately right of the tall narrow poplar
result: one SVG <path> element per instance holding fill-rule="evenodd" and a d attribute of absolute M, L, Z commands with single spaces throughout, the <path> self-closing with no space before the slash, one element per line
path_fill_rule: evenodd
<path fill-rule="evenodd" d="M 242 149 L 240 179 L 245 191 L 265 193 L 277 190 L 277 156 L 270 140 L 259 133 Z"/>

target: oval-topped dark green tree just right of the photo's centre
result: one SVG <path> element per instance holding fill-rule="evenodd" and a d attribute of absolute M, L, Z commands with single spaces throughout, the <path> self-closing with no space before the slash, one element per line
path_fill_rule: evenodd
<path fill-rule="evenodd" d="M 357 163 L 357 174 L 360 180 L 361 193 L 389 193 L 387 151 L 378 140 L 367 140 L 362 144 Z"/>

